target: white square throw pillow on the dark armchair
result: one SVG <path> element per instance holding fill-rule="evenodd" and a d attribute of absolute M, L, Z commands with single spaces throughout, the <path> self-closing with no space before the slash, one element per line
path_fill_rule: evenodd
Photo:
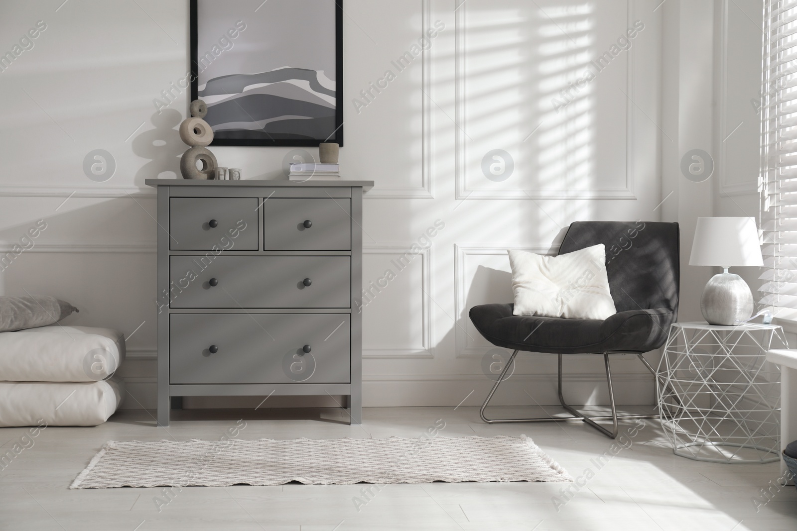
<path fill-rule="evenodd" d="M 510 250 L 509 264 L 514 315 L 605 319 L 617 313 L 603 244 L 559 256 Z"/>

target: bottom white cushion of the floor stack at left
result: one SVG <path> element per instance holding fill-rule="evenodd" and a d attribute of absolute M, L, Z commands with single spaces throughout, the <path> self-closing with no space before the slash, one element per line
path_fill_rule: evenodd
<path fill-rule="evenodd" d="M 96 426 L 116 412 L 123 397 L 124 383 L 116 377 L 63 383 L 0 381 L 0 428 Z"/>

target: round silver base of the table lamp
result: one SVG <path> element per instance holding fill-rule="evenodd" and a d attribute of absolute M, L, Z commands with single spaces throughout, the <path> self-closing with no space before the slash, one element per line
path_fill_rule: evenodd
<path fill-rule="evenodd" d="M 752 315 L 752 292 L 746 282 L 733 273 L 714 275 L 700 299 L 700 310 L 710 325 L 736 325 Z"/>

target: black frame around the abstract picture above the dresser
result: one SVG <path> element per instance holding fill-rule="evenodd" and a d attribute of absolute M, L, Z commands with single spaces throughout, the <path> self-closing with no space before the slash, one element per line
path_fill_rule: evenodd
<path fill-rule="evenodd" d="M 318 146 L 320 143 L 336 143 L 344 145 L 344 67 L 343 67 L 343 0 L 335 2 L 335 131 L 327 139 L 230 139 L 218 138 L 214 135 L 214 140 L 210 146 Z M 225 2 L 226 3 L 226 2 Z M 198 98 L 198 0 L 190 0 L 190 99 Z M 297 21 L 299 22 L 299 21 Z M 285 21 L 285 24 L 291 24 Z M 296 26 L 300 27 L 300 23 Z M 297 33 L 297 38 L 300 38 Z"/>

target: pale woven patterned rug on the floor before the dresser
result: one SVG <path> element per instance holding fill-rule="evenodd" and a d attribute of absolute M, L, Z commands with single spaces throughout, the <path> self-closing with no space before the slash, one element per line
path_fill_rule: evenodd
<path fill-rule="evenodd" d="M 109 441 L 73 489 L 444 482 L 568 482 L 532 439 L 434 437 Z"/>

